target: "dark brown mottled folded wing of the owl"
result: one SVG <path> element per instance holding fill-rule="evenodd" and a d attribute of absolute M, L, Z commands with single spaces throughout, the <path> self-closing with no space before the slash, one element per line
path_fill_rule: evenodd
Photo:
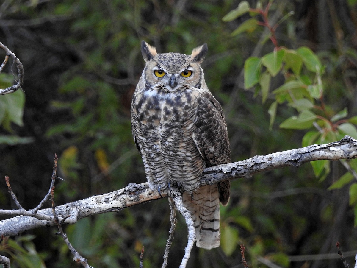
<path fill-rule="evenodd" d="M 192 138 L 207 167 L 231 162 L 231 147 L 228 139 L 227 124 L 222 106 L 208 92 L 204 92 L 197 101 L 195 111 L 195 130 Z M 230 181 L 218 183 L 220 201 L 228 203 Z"/>

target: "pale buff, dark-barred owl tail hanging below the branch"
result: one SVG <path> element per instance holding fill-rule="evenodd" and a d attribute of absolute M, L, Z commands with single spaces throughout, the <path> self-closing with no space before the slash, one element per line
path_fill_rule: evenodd
<path fill-rule="evenodd" d="M 196 231 L 198 248 L 217 248 L 220 245 L 220 200 L 217 185 L 204 185 L 191 195 L 183 194 L 183 204 L 190 210 Z"/>

